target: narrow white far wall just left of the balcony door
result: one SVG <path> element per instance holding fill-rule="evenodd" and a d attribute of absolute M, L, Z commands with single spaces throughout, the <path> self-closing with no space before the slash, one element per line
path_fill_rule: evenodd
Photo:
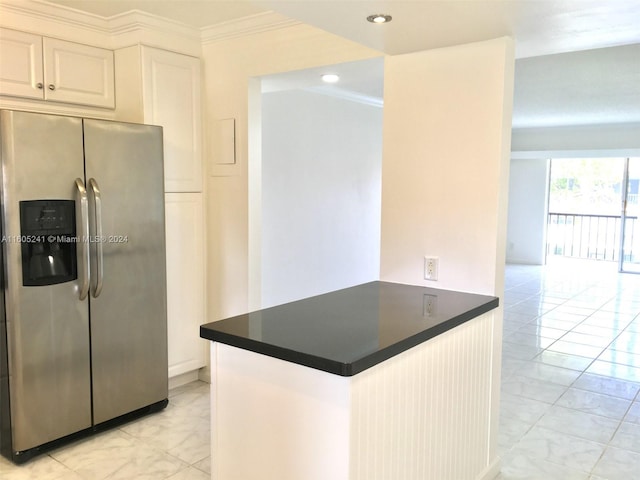
<path fill-rule="evenodd" d="M 548 197 L 549 160 L 512 160 L 507 263 L 544 265 Z"/>

